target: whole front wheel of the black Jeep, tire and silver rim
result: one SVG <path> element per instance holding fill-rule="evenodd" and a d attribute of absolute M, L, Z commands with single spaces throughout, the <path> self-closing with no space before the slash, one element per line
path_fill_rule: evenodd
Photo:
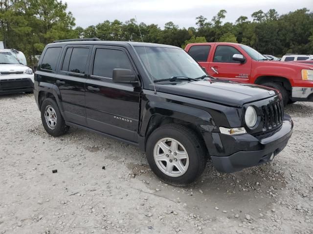
<path fill-rule="evenodd" d="M 186 186 L 201 176 L 207 159 L 199 137 L 177 124 L 157 128 L 148 138 L 146 152 L 156 176 L 176 186 Z"/>

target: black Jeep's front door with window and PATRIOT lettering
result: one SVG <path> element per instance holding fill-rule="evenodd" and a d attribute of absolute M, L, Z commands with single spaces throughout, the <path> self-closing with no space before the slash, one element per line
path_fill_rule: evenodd
<path fill-rule="evenodd" d="M 129 54 L 118 46 L 95 46 L 91 58 L 86 81 L 88 127 L 137 142 L 141 89 L 112 80 L 114 68 L 134 70 Z"/>

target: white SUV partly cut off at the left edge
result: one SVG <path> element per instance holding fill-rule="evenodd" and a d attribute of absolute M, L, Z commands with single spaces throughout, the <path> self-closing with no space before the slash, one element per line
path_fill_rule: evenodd
<path fill-rule="evenodd" d="M 22 65 L 10 49 L 0 49 L 0 94 L 32 93 L 33 70 Z"/>

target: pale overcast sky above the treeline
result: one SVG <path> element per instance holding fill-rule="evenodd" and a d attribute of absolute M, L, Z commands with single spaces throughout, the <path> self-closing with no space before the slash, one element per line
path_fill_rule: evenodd
<path fill-rule="evenodd" d="M 240 16 L 258 10 L 275 9 L 285 14 L 306 7 L 313 11 L 313 0 L 63 0 L 76 19 L 76 26 L 83 28 L 104 20 L 125 22 L 137 17 L 138 22 L 156 23 L 161 28 L 169 21 L 179 27 L 195 27 L 197 16 L 211 20 L 219 10 L 227 11 L 224 21 L 235 22 Z"/>

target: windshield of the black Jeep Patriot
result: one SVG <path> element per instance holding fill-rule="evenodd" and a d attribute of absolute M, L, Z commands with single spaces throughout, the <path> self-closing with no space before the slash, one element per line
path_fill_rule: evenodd
<path fill-rule="evenodd" d="M 149 74 L 151 68 L 154 81 L 172 77 L 199 78 L 206 75 L 201 66 L 182 49 L 166 47 L 134 48 Z"/>

